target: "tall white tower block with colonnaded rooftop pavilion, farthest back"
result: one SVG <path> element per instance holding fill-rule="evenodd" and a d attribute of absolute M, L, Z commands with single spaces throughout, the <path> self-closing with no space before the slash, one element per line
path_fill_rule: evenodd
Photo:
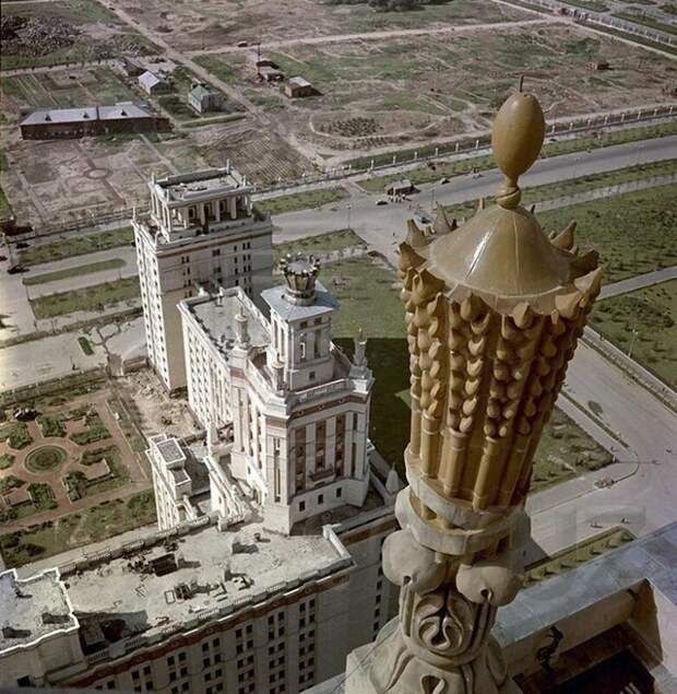
<path fill-rule="evenodd" d="M 177 304 L 199 286 L 271 285 L 272 224 L 251 203 L 253 186 L 230 167 L 149 184 L 151 210 L 134 215 L 149 360 L 168 390 L 186 386 Z"/>

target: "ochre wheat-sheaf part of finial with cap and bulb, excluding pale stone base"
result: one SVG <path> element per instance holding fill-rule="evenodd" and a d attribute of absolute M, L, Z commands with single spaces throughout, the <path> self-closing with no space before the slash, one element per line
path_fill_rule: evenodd
<path fill-rule="evenodd" d="M 548 238 L 520 205 L 520 176 L 544 136 L 538 101 L 513 94 L 492 130 L 506 176 L 497 204 L 480 204 L 460 227 L 441 209 L 427 230 L 411 221 L 401 246 L 407 477 L 425 481 L 432 506 L 436 497 L 475 509 L 523 501 L 543 425 L 599 290 L 597 255 L 579 255 L 574 225 Z"/>

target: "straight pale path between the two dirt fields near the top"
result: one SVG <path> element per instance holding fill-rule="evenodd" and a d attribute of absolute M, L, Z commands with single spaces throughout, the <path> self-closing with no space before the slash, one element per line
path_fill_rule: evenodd
<path fill-rule="evenodd" d="M 399 28 L 383 32 L 360 32 L 357 34 L 326 34 L 323 36 L 310 36 L 307 38 L 285 38 L 282 40 L 272 40 L 262 43 L 262 50 L 272 50 L 276 48 L 286 48 L 288 46 L 318 46 L 321 44 L 343 44 L 359 40 L 382 40 L 384 38 L 407 38 L 409 36 L 433 36 L 438 34 L 471 34 L 472 32 L 482 32 L 487 30 L 498 31 L 504 28 L 514 28 L 519 26 L 533 26 L 539 24 L 554 24 L 562 22 L 561 17 L 537 17 L 531 20 L 513 20 L 510 22 L 484 22 L 479 24 L 463 24 L 456 26 L 440 26 L 429 28 Z M 231 54 L 247 52 L 251 50 L 249 47 L 225 46 L 218 48 L 200 48 L 198 50 L 187 50 L 187 56 L 209 56 L 212 54 Z"/>

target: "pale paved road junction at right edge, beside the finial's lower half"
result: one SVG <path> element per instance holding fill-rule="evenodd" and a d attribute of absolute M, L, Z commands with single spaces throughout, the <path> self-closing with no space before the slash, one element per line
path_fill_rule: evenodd
<path fill-rule="evenodd" d="M 567 484 L 556 487 L 551 504 L 557 493 L 562 503 L 532 517 L 541 548 L 554 552 L 599 532 L 591 522 L 618 525 L 626 518 L 641 536 L 677 519 L 677 414 L 584 343 L 569 366 L 565 391 L 615 432 L 639 464 L 610 489 L 592 487 L 575 498 L 568 498 Z"/>

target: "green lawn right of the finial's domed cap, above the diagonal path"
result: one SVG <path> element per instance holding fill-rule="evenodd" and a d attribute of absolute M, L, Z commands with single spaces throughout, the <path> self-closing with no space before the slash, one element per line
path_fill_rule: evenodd
<path fill-rule="evenodd" d="M 549 210 L 538 220 L 546 233 L 561 231 L 575 220 L 579 247 L 599 251 L 609 283 L 677 263 L 674 186 Z"/>

